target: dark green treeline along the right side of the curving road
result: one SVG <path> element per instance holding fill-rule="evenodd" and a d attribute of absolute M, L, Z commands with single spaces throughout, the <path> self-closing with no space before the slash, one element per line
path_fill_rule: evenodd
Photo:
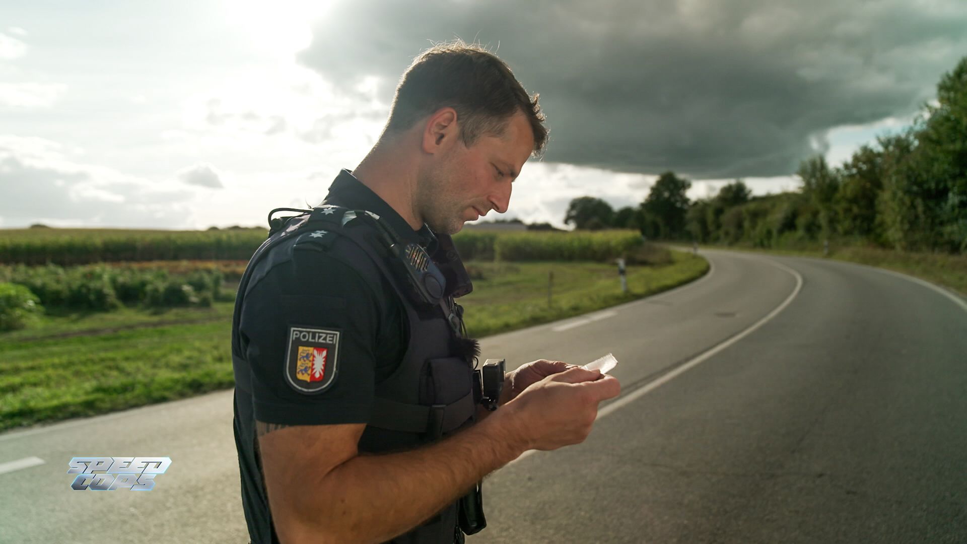
<path fill-rule="evenodd" d="M 864 145 L 842 166 L 804 161 L 795 193 L 751 196 L 742 180 L 689 201 L 687 179 L 664 172 L 636 208 L 571 201 L 578 228 L 639 228 L 646 237 L 794 247 L 822 242 L 903 251 L 967 252 L 967 57 L 937 85 L 908 130 Z"/>

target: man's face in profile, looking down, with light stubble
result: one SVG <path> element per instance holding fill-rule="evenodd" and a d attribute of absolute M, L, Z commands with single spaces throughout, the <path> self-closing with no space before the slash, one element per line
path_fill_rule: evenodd
<path fill-rule="evenodd" d="M 434 232 L 454 234 L 490 210 L 506 212 L 513 178 L 533 149 L 534 133 L 520 111 L 503 137 L 481 136 L 470 147 L 457 138 L 420 180 L 416 205 L 424 223 Z"/>

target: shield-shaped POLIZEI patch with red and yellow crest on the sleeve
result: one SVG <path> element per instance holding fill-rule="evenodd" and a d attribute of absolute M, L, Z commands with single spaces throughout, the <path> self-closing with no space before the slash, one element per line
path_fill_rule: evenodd
<path fill-rule="evenodd" d="M 340 332 L 289 327 L 285 379 L 301 393 L 321 393 L 336 380 Z"/>

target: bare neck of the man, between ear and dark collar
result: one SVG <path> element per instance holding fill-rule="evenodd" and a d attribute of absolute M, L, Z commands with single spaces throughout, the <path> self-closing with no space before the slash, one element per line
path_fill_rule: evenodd
<path fill-rule="evenodd" d="M 370 191 L 390 204 L 410 227 L 414 230 L 423 227 L 423 218 L 419 217 L 414 205 L 416 165 L 407 163 L 403 154 L 395 152 L 393 146 L 380 148 L 377 144 L 352 173 Z"/>

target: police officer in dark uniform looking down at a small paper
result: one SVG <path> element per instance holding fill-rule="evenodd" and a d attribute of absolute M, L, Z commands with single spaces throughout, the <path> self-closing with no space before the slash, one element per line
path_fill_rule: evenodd
<path fill-rule="evenodd" d="M 364 161 L 320 206 L 271 218 L 232 330 L 253 543 L 462 542 L 484 527 L 485 474 L 581 442 L 618 395 L 614 378 L 541 359 L 485 398 L 455 301 L 471 287 L 449 235 L 507 211 L 543 121 L 496 56 L 435 45 Z"/>

